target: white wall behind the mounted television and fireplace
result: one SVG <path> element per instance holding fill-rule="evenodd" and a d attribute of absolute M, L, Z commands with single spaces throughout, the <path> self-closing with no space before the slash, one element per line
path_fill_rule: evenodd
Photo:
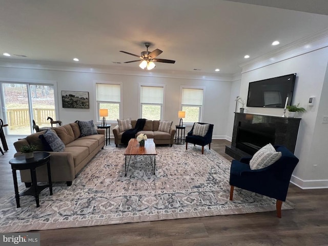
<path fill-rule="evenodd" d="M 240 86 L 242 98 L 247 98 L 248 85 L 252 81 L 297 73 L 292 104 L 300 103 L 307 112 L 302 115 L 298 132 L 295 155 L 300 161 L 292 181 L 302 188 L 328 187 L 328 166 L 324 161 L 327 160 L 327 124 L 321 124 L 322 116 L 328 115 L 328 48 L 276 60 L 271 65 L 263 64 L 265 66 L 256 69 L 247 66 L 243 68 Z M 307 105 L 310 96 L 316 96 L 315 106 Z M 282 109 L 251 107 L 247 108 L 247 112 L 277 116 L 283 114 Z"/>

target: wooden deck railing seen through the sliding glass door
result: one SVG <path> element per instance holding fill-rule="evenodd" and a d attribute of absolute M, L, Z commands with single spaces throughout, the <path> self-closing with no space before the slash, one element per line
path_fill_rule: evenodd
<path fill-rule="evenodd" d="M 36 125 L 49 124 L 48 117 L 53 119 L 55 116 L 55 109 L 33 109 L 33 119 Z M 20 127 L 28 127 L 30 125 L 29 109 L 7 109 L 7 120 L 10 130 L 14 130 Z"/>

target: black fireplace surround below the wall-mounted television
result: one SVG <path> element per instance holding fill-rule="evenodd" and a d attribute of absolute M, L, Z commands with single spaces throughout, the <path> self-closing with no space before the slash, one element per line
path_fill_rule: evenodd
<path fill-rule="evenodd" d="M 231 146 L 226 153 L 234 159 L 252 156 L 263 146 L 283 145 L 294 153 L 300 118 L 235 113 Z"/>

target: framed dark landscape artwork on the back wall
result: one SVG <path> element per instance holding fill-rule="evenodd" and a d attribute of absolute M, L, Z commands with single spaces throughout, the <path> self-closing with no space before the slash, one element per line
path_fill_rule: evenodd
<path fill-rule="evenodd" d="M 61 91 L 63 108 L 89 109 L 89 92 L 87 91 Z"/>

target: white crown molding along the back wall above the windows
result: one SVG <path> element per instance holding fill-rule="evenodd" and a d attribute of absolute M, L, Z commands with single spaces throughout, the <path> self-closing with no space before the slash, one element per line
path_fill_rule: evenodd
<path fill-rule="evenodd" d="M 51 70 L 65 72 L 81 72 L 81 73 L 99 73 L 99 74 L 115 74 L 115 75 L 131 75 L 145 77 L 163 77 L 163 78 L 181 78 L 196 79 L 210 81 L 233 81 L 231 74 L 212 74 L 201 72 L 185 72 L 177 70 L 141 70 L 139 67 L 126 68 L 124 66 L 105 66 L 105 65 L 88 65 L 73 63 L 58 63 L 40 60 L 23 60 L 13 58 L 0 58 L 0 67 L 15 69 L 33 69 L 33 70 Z"/>

